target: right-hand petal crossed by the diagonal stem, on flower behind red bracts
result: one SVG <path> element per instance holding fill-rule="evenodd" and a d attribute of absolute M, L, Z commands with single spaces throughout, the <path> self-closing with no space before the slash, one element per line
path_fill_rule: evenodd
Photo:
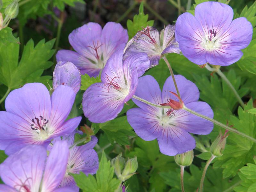
<path fill-rule="evenodd" d="M 186 107 L 204 116 L 213 118 L 212 108 L 205 102 L 196 101 L 188 103 L 186 104 Z M 180 113 L 176 116 L 177 118 L 175 118 L 175 123 L 177 126 L 183 127 L 187 132 L 198 135 L 207 135 L 212 132 L 213 123 L 210 121 L 207 121 L 201 117 L 195 116 L 183 110 L 180 110 Z"/>

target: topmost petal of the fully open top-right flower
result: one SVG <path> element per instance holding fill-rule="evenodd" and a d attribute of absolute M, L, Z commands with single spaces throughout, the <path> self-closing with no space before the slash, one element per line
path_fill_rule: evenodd
<path fill-rule="evenodd" d="M 207 39 L 212 28 L 217 32 L 214 38 L 222 36 L 232 22 L 233 15 L 233 9 L 229 5 L 218 2 L 200 3 L 195 8 L 195 18 L 202 26 Z"/>

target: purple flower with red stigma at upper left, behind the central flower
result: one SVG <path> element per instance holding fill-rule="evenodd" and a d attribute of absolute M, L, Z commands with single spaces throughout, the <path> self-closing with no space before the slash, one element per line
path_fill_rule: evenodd
<path fill-rule="evenodd" d="M 108 58 L 128 41 L 127 30 L 119 23 L 108 22 L 102 29 L 98 23 L 87 23 L 68 36 L 74 51 L 60 50 L 57 61 L 70 61 L 82 74 L 98 76 Z"/>

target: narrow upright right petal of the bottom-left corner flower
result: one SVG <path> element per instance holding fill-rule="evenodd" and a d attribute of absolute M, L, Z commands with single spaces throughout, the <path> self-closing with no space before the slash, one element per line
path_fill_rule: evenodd
<path fill-rule="evenodd" d="M 41 191 L 53 191 L 58 188 L 63 179 L 68 162 L 68 144 L 66 141 L 56 141 L 47 158 Z"/>

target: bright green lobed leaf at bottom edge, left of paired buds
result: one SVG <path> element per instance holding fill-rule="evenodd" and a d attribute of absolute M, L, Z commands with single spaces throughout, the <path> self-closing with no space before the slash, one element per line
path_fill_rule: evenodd
<path fill-rule="evenodd" d="M 113 178 L 114 168 L 111 166 L 104 152 L 101 156 L 96 179 L 91 174 L 86 176 L 83 172 L 72 174 L 72 176 L 76 181 L 76 185 L 84 192 L 113 192 L 121 184 L 119 180 Z"/>

